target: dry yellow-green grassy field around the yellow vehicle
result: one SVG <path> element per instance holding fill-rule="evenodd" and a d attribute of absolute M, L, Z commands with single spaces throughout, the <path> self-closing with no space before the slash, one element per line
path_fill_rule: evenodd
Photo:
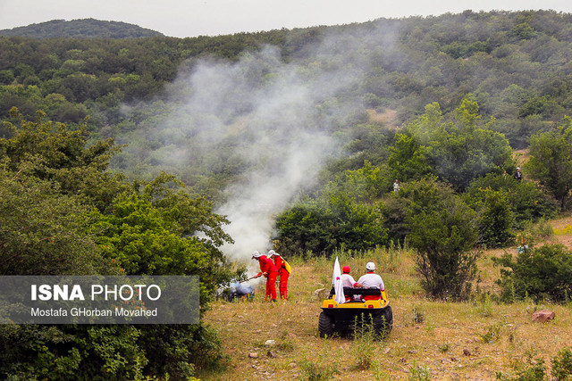
<path fill-rule="evenodd" d="M 568 244 L 568 219 L 551 222 L 552 243 Z M 228 367 L 201 375 L 214 380 L 380 379 L 493 380 L 498 372 L 515 376 L 551 360 L 572 346 L 572 305 L 492 302 L 499 269 L 492 256 L 515 248 L 484 252 L 478 266 L 481 295 L 473 302 L 434 302 L 425 298 L 415 272 L 414 253 L 383 249 L 365 255 L 337 253 L 332 260 L 290 261 L 290 301 L 266 303 L 257 288 L 253 302 L 215 302 L 205 321 L 223 340 Z M 367 261 L 381 269 L 393 310 L 391 334 L 381 342 L 322 339 L 318 335 L 321 299 L 315 291 L 331 287 L 333 261 L 349 265 L 359 277 Z M 534 311 L 548 309 L 556 318 L 534 323 Z M 266 345 L 274 340 L 274 345 Z"/>

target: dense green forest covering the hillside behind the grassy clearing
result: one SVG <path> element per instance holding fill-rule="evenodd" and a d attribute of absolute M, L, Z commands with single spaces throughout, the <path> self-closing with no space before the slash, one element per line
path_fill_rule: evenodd
<path fill-rule="evenodd" d="M 228 245 L 259 234 L 300 256 L 409 244 L 427 294 L 466 300 L 474 248 L 532 247 L 571 206 L 567 13 L 40 33 L 0 37 L 3 275 L 200 275 L 206 309 L 244 271 Z M 1 326 L 0 375 L 190 377 L 217 345 L 202 325 Z"/>

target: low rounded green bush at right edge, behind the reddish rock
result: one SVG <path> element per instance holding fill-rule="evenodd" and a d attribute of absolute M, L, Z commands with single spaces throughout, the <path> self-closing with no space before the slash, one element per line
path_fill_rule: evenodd
<path fill-rule="evenodd" d="M 526 249 L 516 258 L 505 253 L 493 261 L 502 267 L 501 278 L 496 283 L 501 286 L 501 298 L 506 301 L 514 296 L 563 302 L 572 294 L 572 256 L 563 245 L 545 244 Z"/>

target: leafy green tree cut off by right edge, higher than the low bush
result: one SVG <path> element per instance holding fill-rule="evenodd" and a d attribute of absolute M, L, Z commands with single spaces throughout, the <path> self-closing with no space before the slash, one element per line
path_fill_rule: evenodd
<path fill-rule="evenodd" d="M 530 138 L 530 160 L 525 166 L 560 203 L 568 207 L 572 189 L 572 119 L 558 129 Z"/>

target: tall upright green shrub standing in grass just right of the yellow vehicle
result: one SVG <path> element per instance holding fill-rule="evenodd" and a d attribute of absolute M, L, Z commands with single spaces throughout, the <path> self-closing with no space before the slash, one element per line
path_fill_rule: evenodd
<path fill-rule="evenodd" d="M 405 216 L 408 244 L 418 252 L 417 271 L 425 292 L 443 300 L 467 299 L 478 257 L 472 251 L 477 238 L 475 212 L 433 179 L 411 183 L 399 197 L 412 202 Z"/>

